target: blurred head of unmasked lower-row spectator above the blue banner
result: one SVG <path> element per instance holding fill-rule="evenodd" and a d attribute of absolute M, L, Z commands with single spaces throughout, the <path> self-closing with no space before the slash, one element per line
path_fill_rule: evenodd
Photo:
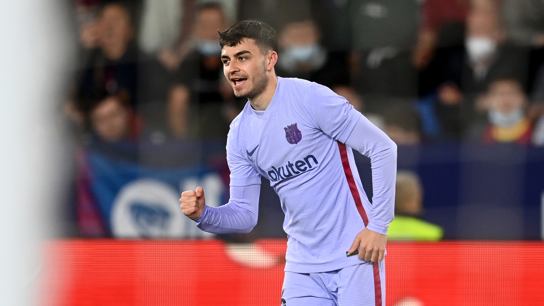
<path fill-rule="evenodd" d="M 135 140 L 143 123 L 128 105 L 128 94 L 120 91 L 114 95 L 106 91 L 91 98 L 88 109 L 93 134 L 107 142 Z"/>

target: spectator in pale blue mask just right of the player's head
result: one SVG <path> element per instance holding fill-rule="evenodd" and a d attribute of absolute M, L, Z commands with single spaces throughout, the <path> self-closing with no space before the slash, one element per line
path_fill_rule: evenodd
<path fill-rule="evenodd" d="M 287 23 L 279 35 L 277 75 L 306 79 L 329 88 L 348 86 L 347 58 L 330 54 L 320 38 L 320 30 L 312 20 Z"/>

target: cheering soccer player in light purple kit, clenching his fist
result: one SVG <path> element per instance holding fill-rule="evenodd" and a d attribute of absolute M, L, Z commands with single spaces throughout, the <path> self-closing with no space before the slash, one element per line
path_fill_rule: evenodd
<path fill-rule="evenodd" d="M 207 232 L 249 233 L 264 176 L 285 213 L 282 305 L 382 305 L 397 146 L 325 86 L 277 77 L 267 24 L 241 21 L 219 38 L 225 77 L 249 99 L 227 137 L 230 201 L 208 207 L 199 187 L 182 193 L 183 213 Z M 351 148 L 372 163 L 372 204 Z"/>

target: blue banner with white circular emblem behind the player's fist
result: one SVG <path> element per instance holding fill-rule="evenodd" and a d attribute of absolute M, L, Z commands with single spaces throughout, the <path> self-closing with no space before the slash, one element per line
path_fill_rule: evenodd
<path fill-rule="evenodd" d="M 147 167 L 92 149 L 85 152 L 84 162 L 94 204 L 114 237 L 213 236 L 183 216 L 178 200 L 181 192 L 202 186 L 207 205 L 225 203 L 225 184 L 218 172 L 207 166 Z"/>

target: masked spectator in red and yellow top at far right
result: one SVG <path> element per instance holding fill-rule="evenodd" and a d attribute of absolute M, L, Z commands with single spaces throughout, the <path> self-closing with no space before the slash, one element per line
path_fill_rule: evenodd
<path fill-rule="evenodd" d="M 498 79 L 491 83 L 484 97 L 488 124 L 484 130 L 486 143 L 531 142 L 533 125 L 525 115 L 527 96 L 515 79 Z"/>

